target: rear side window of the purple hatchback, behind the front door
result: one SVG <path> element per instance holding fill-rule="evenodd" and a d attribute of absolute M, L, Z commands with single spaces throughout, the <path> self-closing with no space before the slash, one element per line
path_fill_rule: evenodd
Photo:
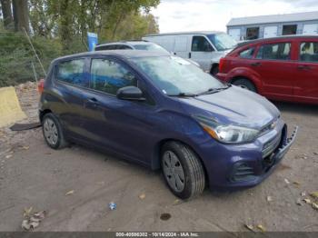
<path fill-rule="evenodd" d="M 88 80 L 84 77 L 84 59 L 75 59 L 58 64 L 56 79 L 68 84 L 88 87 Z"/>

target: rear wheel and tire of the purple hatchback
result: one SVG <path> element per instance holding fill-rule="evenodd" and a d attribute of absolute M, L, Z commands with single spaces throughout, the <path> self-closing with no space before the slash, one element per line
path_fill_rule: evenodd
<path fill-rule="evenodd" d="M 68 145 L 65 140 L 62 125 L 54 114 L 45 114 L 42 120 L 42 132 L 46 144 L 52 149 L 62 149 Z"/>

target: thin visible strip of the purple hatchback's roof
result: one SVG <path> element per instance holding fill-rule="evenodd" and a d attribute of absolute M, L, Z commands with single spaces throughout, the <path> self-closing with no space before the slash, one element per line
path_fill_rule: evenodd
<path fill-rule="evenodd" d="M 84 57 L 91 55 L 114 55 L 123 57 L 126 59 L 130 58 L 139 58 L 139 57 L 155 57 L 155 56 L 171 56 L 169 53 L 164 54 L 163 52 L 154 52 L 154 51 L 145 51 L 145 50 L 104 50 L 104 51 L 92 51 L 92 52 L 83 52 L 74 55 L 65 55 L 62 57 L 58 57 L 55 61 L 64 60 L 67 58 L 73 57 Z"/>

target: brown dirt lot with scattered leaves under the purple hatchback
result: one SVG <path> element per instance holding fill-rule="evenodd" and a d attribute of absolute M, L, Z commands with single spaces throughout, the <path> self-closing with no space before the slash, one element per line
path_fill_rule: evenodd
<path fill-rule="evenodd" d="M 37 119 L 34 88 L 16 88 L 30 122 Z M 296 204 L 318 191 L 318 107 L 275 104 L 287 124 L 300 126 L 277 170 L 253 189 L 206 190 L 184 203 L 175 203 L 159 172 L 77 145 L 54 151 L 41 128 L 19 133 L 2 128 L 0 231 L 20 231 L 23 210 L 31 206 L 48 212 L 37 231 L 247 231 L 244 224 L 262 224 L 267 231 L 318 231 L 318 210 Z M 117 203 L 114 211 L 108 208 L 111 201 Z M 171 218 L 163 221 L 161 213 Z"/>

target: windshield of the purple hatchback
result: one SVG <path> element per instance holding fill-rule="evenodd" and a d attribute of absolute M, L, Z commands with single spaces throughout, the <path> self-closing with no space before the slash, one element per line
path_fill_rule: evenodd
<path fill-rule="evenodd" d="M 168 95 L 197 95 L 226 85 L 194 64 L 176 56 L 132 58 L 154 85 Z"/>

